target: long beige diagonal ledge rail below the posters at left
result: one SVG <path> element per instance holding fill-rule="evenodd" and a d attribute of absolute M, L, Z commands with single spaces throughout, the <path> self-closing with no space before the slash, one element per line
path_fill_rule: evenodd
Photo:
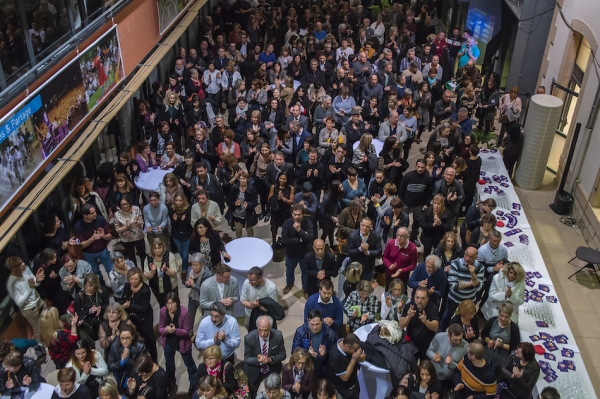
<path fill-rule="evenodd" d="M 161 45 L 148 57 L 148 60 L 138 67 L 137 72 L 133 74 L 127 85 L 121 89 L 91 121 L 81 136 L 75 141 L 67 153 L 56 160 L 56 165 L 48 172 L 44 178 L 37 184 L 39 190 L 32 191 L 6 218 L 1 226 L 0 233 L 0 251 L 10 242 L 11 238 L 23 226 L 33 212 L 50 195 L 62 179 L 69 173 L 76 162 L 85 154 L 87 149 L 94 143 L 102 133 L 105 126 L 116 116 L 124 104 L 129 101 L 138 88 L 148 79 L 156 65 L 170 52 L 173 46 L 177 44 L 179 38 L 186 32 L 192 24 L 207 0 L 199 0 L 193 4 L 186 15 L 175 25 L 169 36 L 160 43 Z"/>

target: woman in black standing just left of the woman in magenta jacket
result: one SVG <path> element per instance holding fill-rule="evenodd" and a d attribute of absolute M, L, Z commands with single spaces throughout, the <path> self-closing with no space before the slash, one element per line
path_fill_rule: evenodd
<path fill-rule="evenodd" d="M 157 359 L 156 338 L 154 338 L 154 312 L 150 304 L 150 288 L 144 283 L 144 273 L 138 267 L 134 267 L 127 272 L 127 280 L 125 288 L 123 288 L 123 296 L 127 298 L 123 303 L 123 308 L 129 312 L 129 318 L 133 325 L 144 338 L 144 348 L 148 348 L 152 359 Z M 121 328 L 121 337 L 122 333 L 123 328 Z"/>

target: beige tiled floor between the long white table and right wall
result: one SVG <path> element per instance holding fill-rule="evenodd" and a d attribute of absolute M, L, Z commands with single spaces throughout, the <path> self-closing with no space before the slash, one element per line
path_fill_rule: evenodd
<path fill-rule="evenodd" d="M 571 331 L 596 392 L 600 392 L 600 284 L 596 277 L 582 271 L 567 279 L 578 267 L 567 262 L 575 256 L 578 246 L 585 246 L 581 232 L 566 226 L 548 206 L 554 201 L 557 185 L 554 176 L 546 172 L 539 190 L 516 188 L 523 209 L 533 229 L 538 246 L 567 316 Z M 573 261 L 577 263 L 577 259 Z M 583 263 L 580 263 L 583 266 Z M 580 267 L 581 267 L 580 266 Z"/>

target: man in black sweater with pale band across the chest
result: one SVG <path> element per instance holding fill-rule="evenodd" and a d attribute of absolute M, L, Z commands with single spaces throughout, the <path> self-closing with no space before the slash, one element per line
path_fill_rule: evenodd
<path fill-rule="evenodd" d="M 423 209 L 427 206 L 427 200 L 431 192 L 431 178 L 425 173 L 425 160 L 417 160 L 416 169 L 408 172 L 402 177 L 400 187 L 398 188 L 398 197 L 404 201 L 406 214 L 413 215 L 413 226 L 410 232 L 410 240 L 420 247 L 418 240 L 419 224 Z"/>

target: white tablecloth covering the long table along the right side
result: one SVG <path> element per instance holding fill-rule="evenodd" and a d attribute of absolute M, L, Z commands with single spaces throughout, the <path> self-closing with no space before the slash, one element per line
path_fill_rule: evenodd
<path fill-rule="evenodd" d="M 533 277 L 530 279 L 533 282 L 533 286 L 526 286 L 525 288 L 531 293 L 533 290 L 540 291 L 540 284 L 548 287 L 549 292 L 543 291 L 545 297 L 554 297 L 558 298 L 556 295 L 556 291 L 554 290 L 554 286 L 552 280 L 550 278 L 550 274 L 548 273 L 548 269 L 546 268 L 546 264 L 544 263 L 544 258 L 540 252 L 540 249 L 537 245 L 535 236 L 533 235 L 533 231 L 531 230 L 531 226 L 527 221 L 527 217 L 525 216 L 525 212 L 523 212 L 520 206 L 521 201 L 519 200 L 519 196 L 517 195 L 512 182 L 508 179 L 508 173 L 504 164 L 502 162 L 501 155 L 495 150 L 482 150 L 479 153 L 479 156 L 482 160 L 481 167 L 481 179 L 486 180 L 485 184 L 477 184 L 477 192 L 481 199 L 487 199 L 493 197 L 497 201 L 497 208 L 494 211 L 496 217 L 500 216 L 504 218 L 501 220 L 504 223 L 503 227 L 497 227 L 497 230 L 502 232 L 502 242 L 503 245 L 510 242 L 512 246 L 508 246 L 508 258 L 511 261 L 516 261 L 521 263 L 526 273 L 529 273 L 530 276 L 532 273 L 539 273 L 542 277 Z M 487 192 L 486 192 L 487 188 Z M 501 192 L 499 193 L 498 191 Z M 514 225 L 512 225 L 515 223 Z M 508 226 L 511 224 L 511 226 Z M 512 234 L 507 236 L 506 233 L 511 232 L 515 229 L 520 229 L 521 232 L 517 232 L 516 234 Z M 521 237 L 523 236 L 523 237 Z M 522 243 L 521 240 L 524 240 Z M 511 244 L 509 244 L 511 245 Z M 573 252 L 575 252 L 575 248 L 573 248 Z M 564 334 L 568 338 L 568 344 L 559 344 L 557 343 L 558 350 L 549 352 L 546 349 L 546 353 L 552 353 L 556 360 L 552 361 L 546 359 L 543 355 L 536 355 L 536 359 L 538 361 L 544 361 L 550 364 L 552 369 L 556 372 L 558 376 L 558 380 L 548 383 L 544 380 L 545 374 L 540 373 L 540 378 L 536 384 L 536 389 L 534 389 L 533 397 L 536 398 L 538 393 L 541 390 L 550 385 L 557 387 L 559 390 L 561 389 L 561 378 L 568 379 L 576 373 L 581 385 L 584 389 L 587 390 L 587 395 L 585 395 L 586 399 L 596 398 L 596 394 L 594 393 L 594 389 L 592 387 L 592 383 L 588 376 L 585 365 L 583 364 L 583 359 L 581 358 L 581 354 L 577 351 L 574 354 L 574 357 L 564 357 L 562 355 L 563 349 L 573 349 L 576 347 L 575 338 L 573 337 L 573 333 L 567 323 L 567 318 L 565 317 L 565 313 L 560 306 L 560 303 L 553 303 L 551 305 L 555 323 L 554 326 L 549 326 L 547 328 L 538 327 L 536 325 L 536 319 L 530 316 L 525 309 L 527 309 L 530 304 L 533 304 L 534 301 L 529 300 L 525 302 L 519 308 L 519 329 L 521 331 L 521 340 L 523 342 L 531 342 L 534 345 L 543 345 L 543 340 L 533 341 L 531 336 L 537 335 L 538 333 L 547 333 L 552 337 L 555 337 L 560 334 Z M 558 363 L 563 360 L 571 360 L 575 363 L 576 371 L 568 371 L 562 372 L 558 370 Z M 567 393 L 561 392 L 563 398 L 567 395 Z M 583 399 L 583 398 L 582 398 Z"/>

